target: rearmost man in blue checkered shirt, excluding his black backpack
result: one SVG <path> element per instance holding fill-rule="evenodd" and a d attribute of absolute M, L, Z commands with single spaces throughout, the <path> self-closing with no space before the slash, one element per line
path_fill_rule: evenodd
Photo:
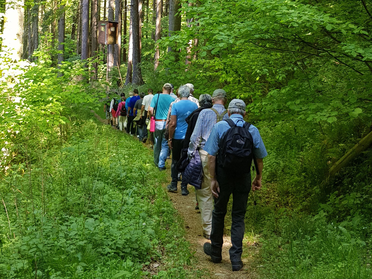
<path fill-rule="evenodd" d="M 228 106 L 228 115 L 235 125 L 243 126 L 243 118 L 246 115 L 246 104 L 242 100 L 234 99 Z M 211 191 L 215 197 L 214 210 L 212 213 L 212 232 L 211 243 L 205 243 L 203 250 L 215 263 L 221 262 L 221 252 L 224 221 L 227 213 L 227 203 L 232 194 L 232 212 L 231 212 L 231 244 L 229 250 L 231 266 L 233 271 L 238 271 L 243 267 L 241 261 L 241 253 L 243 252 L 243 237 L 244 237 L 244 216 L 246 214 L 247 199 L 250 188 L 252 191 L 261 188 L 263 158 L 267 156 L 265 145 L 258 129 L 250 125 L 248 132 L 253 138 L 253 153 L 257 160 L 258 171 L 251 184 L 251 174 L 241 173 L 240 175 L 231 175 L 231 171 L 227 171 L 219 165 L 216 165 L 216 156 L 219 148 L 223 144 L 224 137 L 230 129 L 227 121 L 218 122 L 212 129 L 211 134 L 204 146 L 204 151 L 208 152 L 208 167 L 211 177 Z M 217 173 L 217 177 L 216 177 Z"/>

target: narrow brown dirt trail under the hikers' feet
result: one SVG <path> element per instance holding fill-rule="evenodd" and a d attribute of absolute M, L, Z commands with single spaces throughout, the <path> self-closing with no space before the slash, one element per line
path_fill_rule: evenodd
<path fill-rule="evenodd" d="M 97 113 L 93 110 L 91 111 L 94 113 L 94 116 L 103 124 L 108 124 L 106 119 L 102 119 Z M 137 138 L 133 138 L 137 140 Z M 147 141 L 145 144 L 146 147 L 150 148 L 150 144 Z M 167 160 L 166 166 L 170 177 L 170 161 Z M 166 188 L 167 183 L 163 185 L 164 189 Z M 226 232 L 230 232 L 230 230 L 225 229 L 224 234 L 224 245 L 222 247 L 222 262 L 215 264 L 211 261 L 210 257 L 204 254 L 203 252 L 203 244 L 206 241 L 206 238 L 203 237 L 202 231 L 202 221 L 201 221 L 201 212 L 199 210 L 195 210 L 196 200 L 195 200 L 195 188 L 192 186 L 188 186 L 190 191 L 189 195 L 182 196 L 180 187 L 177 193 L 168 192 L 168 196 L 172 201 L 174 208 L 177 209 L 179 215 L 182 217 L 184 221 L 185 231 L 186 231 L 186 240 L 190 242 L 192 253 L 197 259 L 197 263 L 195 268 L 199 270 L 203 270 L 208 275 L 205 278 L 213 278 L 213 279 L 224 279 L 224 278 L 236 278 L 236 279 L 256 279 L 258 278 L 257 273 L 254 271 L 254 267 L 252 266 L 254 261 L 250 259 L 254 256 L 254 254 L 258 253 L 259 246 L 257 243 L 250 243 L 248 241 L 243 240 L 243 251 L 244 257 L 242 261 L 244 263 L 244 267 L 239 272 L 232 272 L 231 270 L 231 262 L 229 256 L 229 249 L 231 247 L 231 240 L 230 236 L 226 234 Z M 230 224 L 228 224 L 230 222 Z M 225 227 L 231 225 L 231 220 L 229 217 L 229 212 L 226 215 L 225 220 Z M 247 252 L 248 251 L 248 252 Z"/>

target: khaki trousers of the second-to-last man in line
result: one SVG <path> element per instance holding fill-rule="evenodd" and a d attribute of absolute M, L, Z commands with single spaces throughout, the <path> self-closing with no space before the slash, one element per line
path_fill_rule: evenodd
<path fill-rule="evenodd" d="M 196 190 L 196 198 L 198 199 L 202 215 L 203 232 L 210 235 L 212 230 L 213 195 L 211 191 L 211 176 L 209 176 L 208 169 L 208 153 L 204 150 L 199 150 L 199 155 L 203 166 L 203 180 L 202 188 Z"/>

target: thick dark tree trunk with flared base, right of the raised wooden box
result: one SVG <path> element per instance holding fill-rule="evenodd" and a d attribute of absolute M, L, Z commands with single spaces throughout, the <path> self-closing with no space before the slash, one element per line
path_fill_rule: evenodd
<path fill-rule="evenodd" d="M 143 84 L 142 75 L 141 75 L 141 52 L 140 52 L 140 10 L 139 10 L 139 1 L 133 0 L 131 6 L 131 15 L 132 18 L 132 36 L 133 36 L 133 84 Z"/>

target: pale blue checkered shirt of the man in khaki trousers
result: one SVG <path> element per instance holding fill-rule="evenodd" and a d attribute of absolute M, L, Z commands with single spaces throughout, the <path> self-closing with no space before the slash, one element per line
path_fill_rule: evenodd
<path fill-rule="evenodd" d="M 212 106 L 219 114 L 225 111 L 225 107 L 221 104 L 215 104 Z M 227 113 L 224 115 L 224 119 L 228 119 Z M 211 134 L 213 126 L 217 122 L 217 115 L 211 109 L 203 109 L 198 116 L 194 131 L 190 137 L 189 150 L 187 155 L 191 159 L 195 153 L 196 148 L 200 143 L 200 148 L 204 149 L 204 145 L 208 140 L 209 134 Z M 221 121 L 220 121 L 221 122 Z"/>

